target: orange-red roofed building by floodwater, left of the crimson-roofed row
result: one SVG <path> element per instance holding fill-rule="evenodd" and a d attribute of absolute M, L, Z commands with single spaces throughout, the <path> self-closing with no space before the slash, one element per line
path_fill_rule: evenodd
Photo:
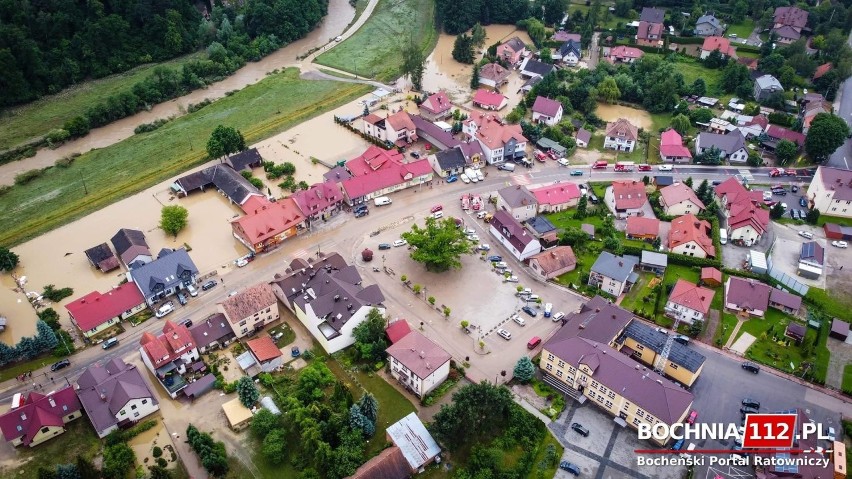
<path fill-rule="evenodd" d="M 246 201 L 243 211 L 244 216 L 231 221 L 231 229 L 234 237 L 252 253 L 269 251 L 296 236 L 305 222 L 292 198 L 272 202 L 256 196 Z"/>

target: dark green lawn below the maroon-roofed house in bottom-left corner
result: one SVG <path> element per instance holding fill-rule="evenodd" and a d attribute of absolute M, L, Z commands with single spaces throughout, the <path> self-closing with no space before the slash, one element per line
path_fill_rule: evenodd
<path fill-rule="evenodd" d="M 10 447 L 11 446 L 5 446 Z M 101 440 L 95 434 L 89 419 L 80 417 L 66 426 L 65 433 L 36 447 L 19 447 L 14 453 L 23 465 L 16 469 L 0 467 L 0 476 L 36 479 L 38 468 L 51 468 L 56 464 L 70 464 L 77 455 L 92 460 L 101 449 Z"/>

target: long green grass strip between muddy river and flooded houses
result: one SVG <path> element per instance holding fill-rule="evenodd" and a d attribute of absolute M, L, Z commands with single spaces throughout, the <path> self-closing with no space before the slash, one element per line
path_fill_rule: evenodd
<path fill-rule="evenodd" d="M 219 124 L 239 129 L 253 143 L 371 88 L 300 80 L 295 68 L 269 75 L 153 132 L 88 152 L 70 167 L 51 168 L 15 186 L 0 197 L 0 244 L 13 246 L 204 163 L 204 145 Z"/>

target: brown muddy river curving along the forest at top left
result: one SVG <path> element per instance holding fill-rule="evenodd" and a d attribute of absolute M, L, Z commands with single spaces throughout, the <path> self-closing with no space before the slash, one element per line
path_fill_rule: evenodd
<path fill-rule="evenodd" d="M 325 45 L 334 37 L 343 33 L 349 22 L 355 18 L 355 9 L 348 0 L 329 0 L 328 15 L 323 18 L 316 29 L 305 38 L 277 50 L 258 62 L 248 63 L 228 78 L 209 85 L 202 90 L 160 103 L 150 111 L 142 111 L 133 116 L 112 122 L 100 128 L 95 128 L 88 135 L 70 141 L 55 150 L 42 148 L 32 158 L 0 165 L 0 185 L 14 183 L 15 175 L 23 171 L 45 168 L 53 165 L 56 160 L 72 153 L 85 153 L 95 148 L 105 148 L 121 140 L 133 136 L 133 130 L 143 124 L 151 123 L 160 118 L 182 115 L 191 103 L 199 103 L 205 98 L 217 99 L 225 96 L 226 92 L 240 90 L 248 85 L 262 80 L 267 73 L 287 66 L 297 65 L 297 57 L 308 51 Z"/>

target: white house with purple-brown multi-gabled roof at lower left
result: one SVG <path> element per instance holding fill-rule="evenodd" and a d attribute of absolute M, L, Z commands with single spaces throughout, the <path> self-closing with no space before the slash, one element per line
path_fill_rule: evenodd
<path fill-rule="evenodd" d="M 83 371 L 77 379 L 77 397 L 101 438 L 160 409 L 139 369 L 121 358 L 103 366 L 95 363 Z"/>

